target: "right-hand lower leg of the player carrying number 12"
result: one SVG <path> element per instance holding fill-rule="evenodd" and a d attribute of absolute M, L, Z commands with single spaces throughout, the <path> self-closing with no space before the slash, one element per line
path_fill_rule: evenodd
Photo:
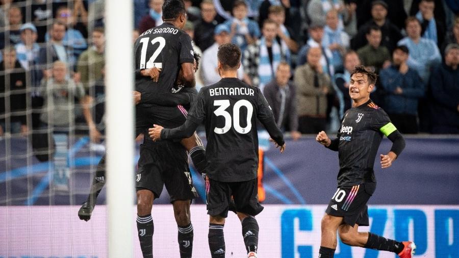
<path fill-rule="evenodd" d="M 191 200 L 176 200 L 172 203 L 174 208 L 174 217 L 177 222 L 180 257 L 188 258 L 193 253 L 193 224 L 191 224 L 190 215 Z"/>

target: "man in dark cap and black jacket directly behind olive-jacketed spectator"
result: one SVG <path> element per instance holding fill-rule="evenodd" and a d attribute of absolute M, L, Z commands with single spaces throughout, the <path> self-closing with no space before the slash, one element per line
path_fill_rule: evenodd
<path fill-rule="evenodd" d="M 372 19 L 367 21 L 362 27 L 359 28 L 359 32 L 351 40 L 352 49 L 359 49 L 367 44 L 366 34 L 368 28 L 371 26 L 377 26 L 381 29 L 382 40 L 381 45 L 387 47 L 392 52 L 397 45 L 397 42 L 402 38 L 402 35 L 398 28 L 387 19 L 387 4 L 382 0 L 373 1 L 371 4 L 371 16 Z"/>

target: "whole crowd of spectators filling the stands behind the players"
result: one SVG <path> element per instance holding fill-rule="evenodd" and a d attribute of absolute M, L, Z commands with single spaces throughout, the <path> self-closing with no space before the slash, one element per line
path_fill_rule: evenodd
<path fill-rule="evenodd" d="M 239 78 L 262 89 L 293 139 L 338 130 L 360 64 L 378 73 L 371 98 L 401 133 L 459 134 L 457 1 L 184 2 L 184 30 L 202 57 L 198 90 L 219 80 L 218 46 L 239 45 Z M 0 3 L 0 136 L 74 128 L 100 141 L 104 0 Z M 125 36 L 161 24 L 162 5 L 134 0 L 135 30 Z"/>

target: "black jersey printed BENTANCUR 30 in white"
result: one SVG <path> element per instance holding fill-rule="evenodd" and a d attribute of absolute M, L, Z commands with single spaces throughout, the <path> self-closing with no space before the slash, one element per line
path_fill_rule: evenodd
<path fill-rule="evenodd" d="M 223 78 L 202 88 L 188 119 L 199 124 L 205 121 L 208 176 L 221 182 L 241 182 L 257 178 L 257 118 L 275 128 L 283 143 L 282 133 L 275 126 L 274 116 L 259 88 L 237 78 Z M 272 126 L 271 126 L 272 127 Z"/>

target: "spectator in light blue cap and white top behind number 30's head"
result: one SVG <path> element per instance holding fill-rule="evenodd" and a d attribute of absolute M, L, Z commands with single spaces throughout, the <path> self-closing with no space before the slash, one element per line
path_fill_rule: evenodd
<path fill-rule="evenodd" d="M 201 69 L 199 69 L 204 86 L 209 86 L 220 81 L 220 74 L 217 69 L 217 52 L 220 45 L 230 43 L 231 29 L 225 24 L 219 24 L 215 27 L 215 43 L 207 48 L 201 59 Z M 238 69 L 238 78 L 243 79 L 244 69 L 241 65 Z"/>

